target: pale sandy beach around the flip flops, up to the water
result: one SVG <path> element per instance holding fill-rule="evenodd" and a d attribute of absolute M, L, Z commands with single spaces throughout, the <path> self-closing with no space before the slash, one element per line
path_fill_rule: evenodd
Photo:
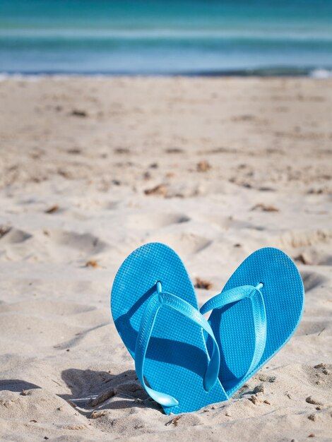
<path fill-rule="evenodd" d="M 1 78 L 0 438 L 332 437 L 332 79 Z M 276 246 L 304 280 L 290 342 L 228 402 L 166 416 L 110 318 L 160 241 L 203 304 Z"/>

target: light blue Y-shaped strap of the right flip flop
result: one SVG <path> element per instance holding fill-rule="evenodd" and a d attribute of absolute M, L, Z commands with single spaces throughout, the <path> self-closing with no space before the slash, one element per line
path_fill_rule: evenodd
<path fill-rule="evenodd" d="M 241 301 L 244 298 L 251 300 L 255 333 L 254 354 L 249 369 L 247 369 L 242 378 L 251 373 L 259 364 L 266 345 L 266 309 L 263 295 L 261 294 L 262 287 L 263 284 L 260 282 L 256 287 L 253 285 L 242 285 L 234 289 L 225 290 L 225 292 L 216 294 L 215 297 L 209 299 L 200 309 L 200 312 L 204 314 L 213 309 L 222 309 L 227 304 Z M 220 333 L 223 333 L 222 330 Z"/>

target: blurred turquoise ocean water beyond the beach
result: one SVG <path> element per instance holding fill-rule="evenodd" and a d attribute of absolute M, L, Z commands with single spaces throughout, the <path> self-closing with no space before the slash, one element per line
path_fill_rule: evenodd
<path fill-rule="evenodd" d="M 332 0 L 0 0 L 0 72 L 327 76 Z"/>

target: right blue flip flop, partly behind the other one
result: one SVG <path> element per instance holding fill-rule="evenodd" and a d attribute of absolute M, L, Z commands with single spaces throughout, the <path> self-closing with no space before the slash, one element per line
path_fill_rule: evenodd
<path fill-rule="evenodd" d="M 223 291 L 201 307 L 202 314 L 212 310 L 208 322 L 220 350 L 219 380 L 229 397 L 291 338 L 303 308 L 296 265 L 271 247 L 248 256 Z"/>

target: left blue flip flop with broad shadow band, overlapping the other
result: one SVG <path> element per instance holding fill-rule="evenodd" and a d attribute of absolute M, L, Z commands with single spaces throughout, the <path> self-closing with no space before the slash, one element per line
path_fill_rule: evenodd
<path fill-rule="evenodd" d="M 150 243 L 133 251 L 114 279 L 111 310 L 139 381 L 166 414 L 227 400 L 218 379 L 218 345 L 172 249 Z M 211 358 L 205 333 L 211 337 Z"/>

